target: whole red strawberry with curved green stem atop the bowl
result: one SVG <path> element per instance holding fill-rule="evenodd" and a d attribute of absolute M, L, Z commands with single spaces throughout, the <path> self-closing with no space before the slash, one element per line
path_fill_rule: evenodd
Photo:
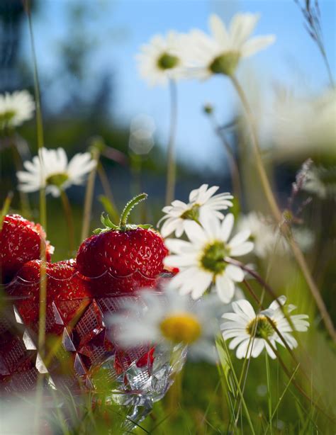
<path fill-rule="evenodd" d="M 145 193 L 125 206 L 119 225 L 101 215 L 105 226 L 84 240 L 77 253 L 77 268 L 88 279 L 95 296 L 130 293 L 138 288 L 154 287 L 163 271 L 163 259 L 168 254 L 159 233 L 150 225 L 128 225 L 130 210 Z"/>

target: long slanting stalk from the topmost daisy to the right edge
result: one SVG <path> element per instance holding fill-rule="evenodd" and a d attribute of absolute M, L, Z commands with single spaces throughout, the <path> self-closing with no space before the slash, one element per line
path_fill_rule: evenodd
<path fill-rule="evenodd" d="M 257 131 L 254 124 L 254 117 L 250 105 L 245 96 L 245 92 L 243 91 L 242 86 L 240 86 L 240 83 L 239 81 L 237 81 L 235 76 L 230 76 L 230 79 L 233 82 L 233 86 L 235 87 L 238 96 L 240 97 L 240 101 L 242 102 L 242 106 L 244 107 L 245 113 L 247 115 L 248 123 L 250 124 L 250 129 L 252 133 L 251 135 L 252 145 L 253 145 L 255 162 L 257 164 L 257 171 L 259 174 L 260 181 L 262 183 L 264 194 L 267 198 L 267 202 L 269 203 L 269 208 L 271 209 L 271 213 L 274 215 L 276 222 L 279 224 L 279 228 L 282 234 L 284 235 L 284 237 L 286 237 L 286 239 L 289 240 L 289 244 L 291 246 L 293 255 L 296 259 L 296 263 L 298 264 L 299 268 L 303 273 L 304 278 L 306 279 L 306 282 L 308 283 L 310 293 L 313 295 L 318 310 L 320 311 L 320 315 L 323 319 L 327 332 L 330 334 L 332 340 L 336 341 L 335 327 L 332 323 L 329 313 L 327 312 L 327 308 L 325 307 L 323 298 L 320 295 L 320 290 L 318 289 L 318 286 L 313 280 L 313 276 L 311 276 L 311 273 L 308 268 L 308 264 L 306 263 L 306 259 L 304 258 L 301 249 L 298 247 L 298 244 L 296 243 L 296 241 L 293 239 L 293 236 L 291 235 L 291 230 L 289 226 L 286 224 L 286 222 L 284 222 L 283 216 L 281 214 L 281 210 L 279 209 L 279 206 L 277 205 L 276 200 L 274 198 L 274 193 L 271 190 L 271 186 L 269 184 L 269 180 L 267 178 L 267 174 L 264 169 L 264 164 L 262 163 Z"/>

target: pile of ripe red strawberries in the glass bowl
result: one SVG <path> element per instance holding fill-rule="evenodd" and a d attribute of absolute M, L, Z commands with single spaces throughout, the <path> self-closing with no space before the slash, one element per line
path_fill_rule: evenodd
<path fill-rule="evenodd" d="M 39 224 L 20 215 L 6 215 L 0 232 L 0 271 L 4 289 L 0 298 L 7 298 L 11 303 L 0 312 L 0 385 L 13 383 L 21 373 L 34 373 L 35 361 L 13 327 L 11 304 L 37 338 L 41 279 L 45 280 L 47 344 L 59 338 L 67 348 L 64 337 L 65 333 L 69 334 L 71 344 L 65 350 L 72 350 L 72 343 L 77 339 L 82 349 L 80 363 L 84 366 L 94 364 L 92 346 L 118 352 L 102 334 L 101 305 L 96 305 L 95 300 L 131 295 L 141 288 L 156 288 L 164 270 L 164 256 L 168 253 L 159 233 L 147 225 L 127 224 L 131 208 L 123 214 L 118 226 L 108 217 L 102 217 L 104 228 L 84 240 L 76 259 L 57 263 L 51 262 L 53 247 Z M 45 252 L 44 260 L 40 259 L 40 252 Z M 96 319 L 96 324 L 92 324 L 91 331 L 82 333 L 88 329 L 85 317 L 90 322 L 92 318 Z M 74 338 L 72 332 L 76 328 L 80 332 Z M 120 350 L 120 353 L 125 356 L 125 352 Z M 152 350 L 148 356 L 152 359 Z M 75 357 L 68 355 L 67 358 Z M 127 355 L 125 358 L 129 359 Z M 118 358 L 115 361 L 118 371 L 121 364 Z M 76 365 L 76 361 L 70 362 L 72 366 Z"/>

